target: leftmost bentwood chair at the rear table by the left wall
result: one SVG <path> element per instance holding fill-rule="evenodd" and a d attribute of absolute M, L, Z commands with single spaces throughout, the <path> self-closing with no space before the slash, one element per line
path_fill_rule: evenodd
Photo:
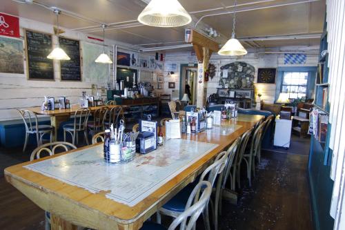
<path fill-rule="evenodd" d="M 50 134 L 50 142 L 52 142 L 52 126 L 46 124 L 39 124 L 37 120 L 37 115 L 32 113 L 31 111 L 27 111 L 24 109 L 17 109 L 17 111 L 23 119 L 26 130 L 23 152 L 25 152 L 26 150 L 26 145 L 28 144 L 30 134 L 36 134 L 37 146 L 42 144 L 43 135 L 46 134 Z"/>

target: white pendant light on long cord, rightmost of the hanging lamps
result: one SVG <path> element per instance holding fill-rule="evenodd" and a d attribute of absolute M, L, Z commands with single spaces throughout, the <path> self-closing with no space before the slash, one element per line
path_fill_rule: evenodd
<path fill-rule="evenodd" d="M 233 15 L 233 34 L 231 38 L 226 41 L 226 44 L 218 51 L 219 55 L 227 55 L 227 56 L 240 56 L 246 55 L 247 50 L 239 43 L 237 39 L 235 39 L 235 25 L 236 25 L 236 4 L 237 0 L 235 0 L 235 10 Z"/>

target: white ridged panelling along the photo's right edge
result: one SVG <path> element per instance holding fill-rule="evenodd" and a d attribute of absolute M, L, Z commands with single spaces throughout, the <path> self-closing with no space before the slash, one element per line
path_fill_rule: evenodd
<path fill-rule="evenodd" d="M 345 1 L 327 0 L 328 102 L 331 104 L 331 178 L 334 180 L 331 216 L 334 229 L 345 229 Z"/>

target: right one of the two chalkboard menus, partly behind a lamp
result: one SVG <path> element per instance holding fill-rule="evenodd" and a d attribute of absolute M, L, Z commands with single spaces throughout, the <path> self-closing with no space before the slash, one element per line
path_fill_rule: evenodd
<path fill-rule="evenodd" d="M 60 61 L 61 80 L 81 81 L 80 44 L 77 40 L 59 37 L 60 47 L 65 50 L 70 60 Z"/>

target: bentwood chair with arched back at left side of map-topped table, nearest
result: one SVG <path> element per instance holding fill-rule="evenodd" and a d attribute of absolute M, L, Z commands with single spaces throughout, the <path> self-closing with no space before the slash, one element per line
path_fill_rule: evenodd
<path fill-rule="evenodd" d="M 43 144 L 35 148 L 34 151 L 32 151 L 31 156 L 30 156 L 30 161 L 34 160 L 35 158 L 39 159 L 43 151 L 46 151 L 49 155 L 54 155 L 55 150 L 57 148 L 63 148 L 64 151 L 69 151 L 70 149 L 76 149 L 77 147 L 68 142 L 52 142 L 52 143 Z M 46 211 L 45 216 L 46 216 L 45 229 L 50 230 L 50 213 Z"/>

